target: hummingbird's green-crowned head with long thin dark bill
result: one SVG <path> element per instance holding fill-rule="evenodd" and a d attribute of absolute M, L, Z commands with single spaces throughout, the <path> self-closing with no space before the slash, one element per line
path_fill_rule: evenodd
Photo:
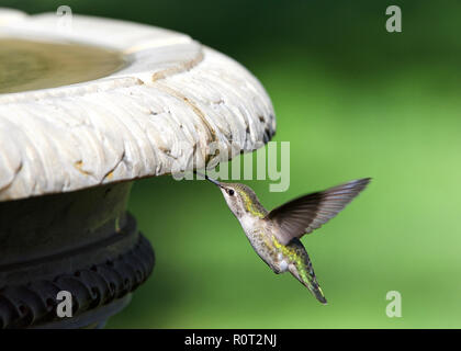
<path fill-rule="evenodd" d="M 260 205 L 251 188 L 240 183 L 223 183 L 204 176 L 206 180 L 217 185 L 234 215 L 240 219 L 244 216 L 263 217 L 267 211 Z"/>

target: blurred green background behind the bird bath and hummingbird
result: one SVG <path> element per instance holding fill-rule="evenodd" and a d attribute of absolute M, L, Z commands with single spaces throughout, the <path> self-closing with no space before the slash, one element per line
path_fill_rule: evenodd
<path fill-rule="evenodd" d="M 157 264 L 110 328 L 461 327 L 459 1 L 8 1 L 190 34 L 249 68 L 270 94 L 291 186 L 247 181 L 272 208 L 360 177 L 369 189 L 303 242 L 328 306 L 276 275 L 220 192 L 169 177 L 136 182 L 130 210 Z M 403 32 L 385 31 L 401 5 Z M 389 318 L 389 291 L 402 318 Z"/>

